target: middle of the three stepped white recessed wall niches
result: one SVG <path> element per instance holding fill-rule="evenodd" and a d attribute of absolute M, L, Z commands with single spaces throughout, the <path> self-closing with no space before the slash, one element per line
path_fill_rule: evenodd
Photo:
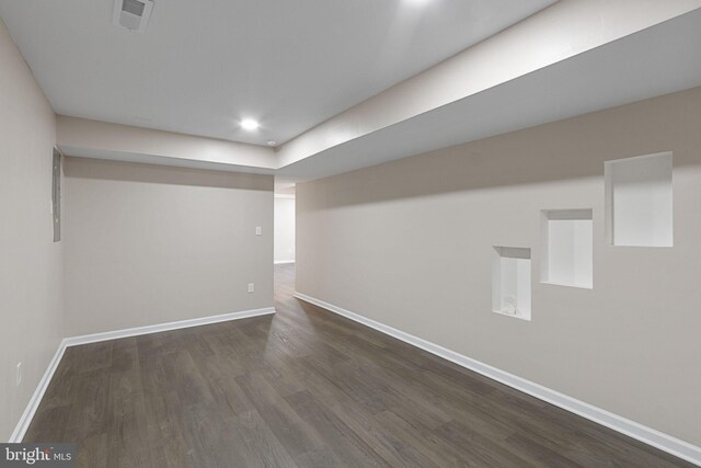
<path fill-rule="evenodd" d="M 540 282 L 591 289 L 591 209 L 543 209 Z"/>

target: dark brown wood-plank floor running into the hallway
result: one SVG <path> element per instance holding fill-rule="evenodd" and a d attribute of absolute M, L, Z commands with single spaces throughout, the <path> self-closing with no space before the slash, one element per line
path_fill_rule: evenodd
<path fill-rule="evenodd" d="M 69 347 L 24 438 L 82 467 L 679 467 L 663 452 L 292 297 Z"/>

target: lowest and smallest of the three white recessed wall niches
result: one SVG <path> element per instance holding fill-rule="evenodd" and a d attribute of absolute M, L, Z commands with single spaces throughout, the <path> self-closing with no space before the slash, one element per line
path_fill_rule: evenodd
<path fill-rule="evenodd" d="M 492 311 L 530 320 L 530 249 L 494 247 Z"/>

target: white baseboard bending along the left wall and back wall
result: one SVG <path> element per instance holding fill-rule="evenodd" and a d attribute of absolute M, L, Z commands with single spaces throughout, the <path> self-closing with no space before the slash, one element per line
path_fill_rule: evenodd
<path fill-rule="evenodd" d="M 24 438 L 24 434 L 26 434 L 26 430 L 30 427 L 30 424 L 34 419 L 34 413 L 36 413 L 36 410 L 38 409 L 39 403 L 42 402 L 42 398 L 44 398 L 44 393 L 46 392 L 46 388 L 48 387 L 48 384 L 51 381 L 51 377 L 54 377 L 54 373 L 56 372 L 58 364 L 61 362 L 61 357 L 64 357 L 64 353 L 66 352 L 66 349 L 68 346 L 78 346 L 81 344 L 96 343 L 100 341 L 118 340 L 120 338 L 138 336 L 141 334 L 158 333 L 162 331 L 177 330 L 177 329 L 189 328 L 189 327 L 199 327 L 199 326 L 206 326 L 209 323 L 226 322 L 230 320 L 241 320 L 241 319 L 248 319 L 250 317 L 266 316 L 269 313 L 275 313 L 274 307 L 244 310 L 241 312 L 222 313 L 219 316 L 200 317 L 197 319 L 180 320 L 176 322 L 159 323 L 154 326 L 136 327 L 136 328 L 124 329 L 124 330 L 107 331 L 104 333 L 93 333 L 93 334 L 83 334 L 81 336 L 65 338 L 64 340 L 61 340 L 60 344 L 58 345 L 58 350 L 56 351 L 54 358 L 51 359 L 48 367 L 46 368 L 46 372 L 44 373 L 44 376 L 39 380 L 39 384 L 37 385 L 36 390 L 34 390 L 34 395 L 32 395 L 30 402 L 24 409 L 24 412 L 20 418 L 20 422 L 18 422 L 18 425 L 14 427 L 14 431 L 12 432 L 12 435 L 10 436 L 9 442 L 19 443 L 19 442 L 22 442 L 22 440 Z"/>

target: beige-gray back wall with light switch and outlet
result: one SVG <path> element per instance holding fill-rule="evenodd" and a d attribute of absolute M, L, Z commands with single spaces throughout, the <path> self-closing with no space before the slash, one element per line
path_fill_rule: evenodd
<path fill-rule="evenodd" d="M 65 173 L 67 336 L 273 306 L 273 176 L 81 158 Z"/>

